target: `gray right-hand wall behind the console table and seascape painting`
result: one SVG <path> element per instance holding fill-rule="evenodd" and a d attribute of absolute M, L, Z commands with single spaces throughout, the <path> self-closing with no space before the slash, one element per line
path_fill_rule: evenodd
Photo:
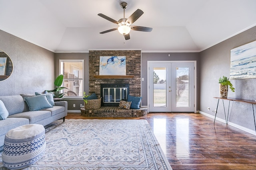
<path fill-rule="evenodd" d="M 219 97 L 218 79 L 221 76 L 230 76 L 230 50 L 256 40 L 256 27 L 252 27 L 230 39 L 227 39 L 209 49 L 200 52 L 200 111 L 215 115 Z M 256 51 L 255 51 L 256 53 Z M 235 92 L 228 91 L 229 98 L 240 98 L 245 100 L 256 99 L 256 79 L 230 80 L 234 85 Z M 217 117 L 225 119 L 223 104 L 220 101 Z M 228 102 L 224 101 L 227 109 Z M 210 107 L 210 111 L 207 110 Z M 254 105 L 254 107 L 256 107 Z M 252 104 L 242 102 L 230 102 L 229 121 L 237 125 L 255 130 Z"/>

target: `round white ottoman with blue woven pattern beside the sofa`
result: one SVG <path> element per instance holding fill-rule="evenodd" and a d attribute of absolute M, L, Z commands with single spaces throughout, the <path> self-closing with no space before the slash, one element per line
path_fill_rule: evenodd
<path fill-rule="evenodd" d="M 29 124 L 11 129 L 4 139 L 3 165 L 11 170 L 34 164 L 44 154 L 46 142 L 43 125 Z"/>

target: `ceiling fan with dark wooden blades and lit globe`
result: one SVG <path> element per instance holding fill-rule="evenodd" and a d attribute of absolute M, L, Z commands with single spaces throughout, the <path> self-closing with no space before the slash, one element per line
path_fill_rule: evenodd
<path fill-rule="evenodd" d="M 128 4 L 126 2 L 121 2 L 120 6 L 124 9 L 124 14 L 125 14 L 125 9 L 127 8 Z M 150 27 L 141 27 L 141 26 L 131 25 L 136 20 L 138 20 L 138 18 L 140 18 L 140 16 L 142 16 L 143 13 L 144 12 L 142 10 L 138 9 L 129 18 L 125 18 L 125 16 L 124 16 L 124 18 L 121 18 L 118 21 L 116 21 L 112 18 L 109 18 L 108 16 L 105 16 L 104 14 L 98 14 L 98 16 L 119 25 L 119 27 L 117 27 L 117 28 L 108 29 L 108 30 L 100 32 L 100 33 L 104 34 L 104 33 L 118 30 L 122 35 L 124 35 L 124 38 L 126 40 L 128 40 L 128 39 L 130 39 L 130 30 L 151 32 L 152 28 L 150 28 Z"/>

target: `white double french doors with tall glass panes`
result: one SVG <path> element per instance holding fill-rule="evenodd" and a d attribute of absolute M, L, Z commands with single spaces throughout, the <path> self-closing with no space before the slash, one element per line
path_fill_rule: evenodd
<path fill-rule="evenodd" d="M 150 112 L 196 112 L 195 61 L 148 61 Z"/>

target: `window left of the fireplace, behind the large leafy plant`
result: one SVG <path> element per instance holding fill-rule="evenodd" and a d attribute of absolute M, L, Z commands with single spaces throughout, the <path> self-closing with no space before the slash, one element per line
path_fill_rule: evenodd
<path fill-rule="evenodd" d="M 64 75 L 63 92 L 66 97 L 82 97 L 84 94 L 84 61 L 83 60 L 62 60 L 60 61 L 60 74 Z"/>

